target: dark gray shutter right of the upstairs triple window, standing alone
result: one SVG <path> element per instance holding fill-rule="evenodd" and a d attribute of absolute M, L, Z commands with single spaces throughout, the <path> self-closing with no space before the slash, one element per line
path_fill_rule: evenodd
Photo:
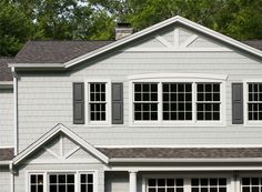
<path fill-rule="evenodd" d="M 243 83 L 232 83 L 232 124 L 243 124 Z"/>

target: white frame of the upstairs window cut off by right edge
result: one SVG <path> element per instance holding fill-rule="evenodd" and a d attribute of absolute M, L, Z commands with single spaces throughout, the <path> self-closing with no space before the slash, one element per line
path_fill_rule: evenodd
<path fill-rule="evenodd" d="M 262 83 L 262 79 L 249 79 L 243 81 L 243 105 L 244 105 L 244 125 L 245 127 L 261 127 L 262 120 L 249 120 L 249 83 Z"/>

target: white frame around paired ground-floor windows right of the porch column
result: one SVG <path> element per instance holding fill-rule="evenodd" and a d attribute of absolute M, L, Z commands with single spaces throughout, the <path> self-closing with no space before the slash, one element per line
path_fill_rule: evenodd
<path fill-rule="evenodd" d="M 231 192 L 234 189 L 233 175 L 230 173 L 167 173 L 167 174 L 143 174 L 142 175 L 142 192 L 147 192 L 147 180 L 148 179 L 183 179 L 184 185 L 183 192 L 191 192 L 191 179 L 194 178 L 225 178 L 226 179 L 226 192 Z"/>

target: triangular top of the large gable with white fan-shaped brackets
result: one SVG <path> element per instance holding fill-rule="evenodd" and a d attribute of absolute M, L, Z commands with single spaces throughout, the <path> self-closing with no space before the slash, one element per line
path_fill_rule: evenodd
<path fill-rule="evenodd" d="M 231 51 L 229 48 L 183 27 L 159 31 L 148 39 L 127 48 L 125 51 Z"/>

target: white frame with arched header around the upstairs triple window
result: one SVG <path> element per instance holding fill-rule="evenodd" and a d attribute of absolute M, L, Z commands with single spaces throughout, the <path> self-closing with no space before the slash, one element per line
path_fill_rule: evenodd
<path fill-rule="evenodd" d="M 161 78 L 160 78 L 161 77 Z M 225 80 L 226 75 L 214 74 L 145 74 L 132 75 L 129 78 L 129 123 L 130 127 L 225 127 Z M 134 85 L 135 82 L 159 82 L 158 83 L 158 121 L 134 121 Z M 184 121 L 164 121 L 162 120 L 162 83 L 164 82 L 191 82 L 192 83 L 192 120 Z M 220 85 L 220 120 L 219 121 L 196 121 L 196 83 L 213 82 L 221 83 Z"/>

